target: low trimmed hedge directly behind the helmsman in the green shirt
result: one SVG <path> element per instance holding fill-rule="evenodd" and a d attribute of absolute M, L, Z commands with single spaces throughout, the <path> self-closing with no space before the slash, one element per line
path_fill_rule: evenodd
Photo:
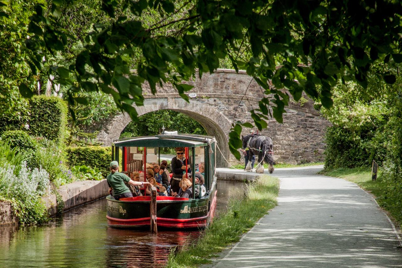
<path fill-rule="evenodd" d="M 109 175 L 109 164 L 112 159 L 111 147 L 67 147 L 66 152 L 70 166 L 90 166 L 98 168 L 104 177 Z"/>

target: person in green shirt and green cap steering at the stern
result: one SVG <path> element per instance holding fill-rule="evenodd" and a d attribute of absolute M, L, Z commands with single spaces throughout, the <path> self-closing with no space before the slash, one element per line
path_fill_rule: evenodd
<path fill-rule="evenodd" d="M 144 184 L 149 184 L 149 182 L 135 182 L 130 179 L 124 173 L 119 172 L 119 163 L 117 161 L 110 162 L 110 174 L 107 176 L 107 184 L 109 185 L 109 194 L 112 194 L 116 200 L 123 197 L 133 197 L 130 189 L 125 185 L 124 182 L 131 184 L 133 186 L 143 186 Z"/>

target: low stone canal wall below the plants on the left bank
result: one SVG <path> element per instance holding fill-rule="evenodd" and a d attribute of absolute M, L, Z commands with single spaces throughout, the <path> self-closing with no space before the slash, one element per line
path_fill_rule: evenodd
<path fill-rule="evenodd" d="M 109 189 L 106 179 L 104 180 L 85 180 L 73 182 L 60 186 L 57 192 L 60 194 L 63 202 L 63 211 L 74 207 L 84 205 L 107 195 Z M 43 197 L 45 206 L 50 216 L 57 213 L 57 196 L 51 194 Z M 0 225 L 17 224 L 18 219 L 13 215 L 11 204 L 9 202 L 0 202 Z"/>

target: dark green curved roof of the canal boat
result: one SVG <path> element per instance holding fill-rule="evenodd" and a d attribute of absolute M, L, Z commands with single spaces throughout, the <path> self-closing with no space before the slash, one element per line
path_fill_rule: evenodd
<path fill-rule="evenodd" d="M 199 147 L 213 143 L 214 137 L 178 133 L 177 135 L 142 136 L 117 139 L 112 146 L 117 147 Z"/>

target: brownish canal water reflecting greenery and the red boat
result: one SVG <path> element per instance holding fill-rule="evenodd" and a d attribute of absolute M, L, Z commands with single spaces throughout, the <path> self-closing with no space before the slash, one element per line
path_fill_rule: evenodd
<path fill-rule="evenodd" d="M 218 180 L 216 213 L 246 183 Z M 216 215 L 215 215 L 216 216 Z M 171 250 L 192 243 L 200 232 L 110 228 L 106 199 L 72 209 L 43 226 L 0 226 L 0 267 L 163 267 Z"/>

